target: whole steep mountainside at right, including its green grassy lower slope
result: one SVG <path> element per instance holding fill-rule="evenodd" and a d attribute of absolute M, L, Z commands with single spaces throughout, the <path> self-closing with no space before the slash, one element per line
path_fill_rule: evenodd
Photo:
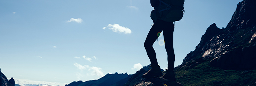
<path fill-rule="evenodd" d="M 184 86 L 256 86 L 256 0 L 243 0 L 227 24 L 208 27 L 174 68 Z"/>

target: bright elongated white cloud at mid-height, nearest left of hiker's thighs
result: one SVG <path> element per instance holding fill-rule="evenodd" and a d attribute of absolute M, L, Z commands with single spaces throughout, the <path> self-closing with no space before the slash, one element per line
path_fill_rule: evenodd
<path fill-rule="evenodd" d="M 108 24 L 108 29 L 111 29 L 113 32 L 120 32 L 125 34 L 131 34 L 131 30 L 127 27 L 120 26 L 119 24 Z M 105 29 L 106 27 L 103 27 Z"/>

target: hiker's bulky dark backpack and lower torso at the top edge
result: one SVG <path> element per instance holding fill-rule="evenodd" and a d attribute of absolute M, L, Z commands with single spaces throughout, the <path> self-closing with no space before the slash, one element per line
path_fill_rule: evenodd
<path fill-rule="evenodd" d="M 150 17 L 155 23 L 157 19 L 166 22 L 175 22 L 182 19 L 184 10 L 184 0 L 150 0 L 154 10 Z"/>

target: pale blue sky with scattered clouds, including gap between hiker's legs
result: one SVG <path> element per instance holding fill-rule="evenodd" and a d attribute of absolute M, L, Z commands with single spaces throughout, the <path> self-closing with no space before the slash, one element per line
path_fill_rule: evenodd
<path fill-rule="evenodd" d="M 226 27 L 242 0 L 185 0 L 174 30 L 175 66 L 213 23 Z M 58 83 L 133 74 L 150 63 L 149 0 L 0 0 L 0 67 L 7 78 Z M 167 68 L 163 37 L 153 45 Z"/>

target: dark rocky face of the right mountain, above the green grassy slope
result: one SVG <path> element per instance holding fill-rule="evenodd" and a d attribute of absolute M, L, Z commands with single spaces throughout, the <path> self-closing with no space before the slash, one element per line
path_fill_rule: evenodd
<path fill-rule="evenodd" d="M 243 0 L 237 5 L 225 29 L 212 24 L 196 49 L 184 59 L 181 67 L 196 65 L 196 59 L 211 60 L 222 69 L 247 70 L 256 68 L 256 0 Z"/>

